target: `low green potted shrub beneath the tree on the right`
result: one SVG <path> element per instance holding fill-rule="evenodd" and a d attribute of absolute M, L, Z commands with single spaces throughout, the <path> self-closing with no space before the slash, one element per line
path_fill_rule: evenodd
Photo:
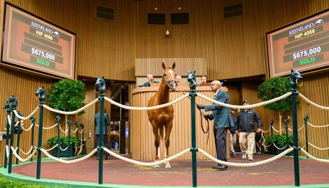
<path fill-rule="evenodd" d="M 266 143 L 267 145 L 271 145 L 269 147 L 269 152 L 273 152 L 272 154 L 280 154 L 281 152 L 283 152 L 284 150 L 288 149 L 287 146 L 287 136 L 285 133 L 283 134 L 274 134 L 274 135 L 270 135 L 266 138 Z M 276 145 L 276 147 L 279 147 L 280 149 L 277 149 L 276 147 L 274 147 L 274 145 Z M 293 135 L 292 134 L 288 134 L 288 144 L 290 146 L 293 145 Z M 283 149 L 281 149 L 283 148 Z M 291 155 L 292 152 L 289 152 L 288 155 Z"/>

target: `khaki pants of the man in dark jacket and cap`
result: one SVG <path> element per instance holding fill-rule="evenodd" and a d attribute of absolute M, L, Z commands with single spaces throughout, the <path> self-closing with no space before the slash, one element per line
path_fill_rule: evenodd
<path fill-rule="evenodd" d="M 246 133 L 240 132 L 239 143 L 241 152 L 248 154 L 248 157 L 253 157 L 253 145 L 255 145 L 255 132 Z"/>

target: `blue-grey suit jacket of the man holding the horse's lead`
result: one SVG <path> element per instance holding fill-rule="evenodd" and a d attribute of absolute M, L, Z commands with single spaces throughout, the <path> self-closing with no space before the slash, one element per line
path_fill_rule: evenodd
<path fill-rule="evenodd" d="M 228 93 L 224 92 L 222 89 L 219 89 L 214 100 L 219 101 L 221 103 L 230 103 L 230 99 L 228 98 Z M 224 106 L 219 106 L 214 103 L 212 105 L 204 106 L 204 111 L 213 111 L 210 115 L 209 120 L 214 120 L 214 128 L 230 128 L 231 126 L 235 126 L 235 122 L 233 121 L 232 115 L 230 113 L 230 108 L 226 108 Z"/>

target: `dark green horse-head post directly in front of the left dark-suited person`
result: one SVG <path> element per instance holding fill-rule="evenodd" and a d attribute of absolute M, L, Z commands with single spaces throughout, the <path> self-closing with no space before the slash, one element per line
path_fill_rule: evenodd
<path fill-rule="evenodd" d="M 98 184 L 103 184 L 103 142 L 104 142 L 104 96 L 106 91 L 106 83 L 104 77 L 97 78 L 94 84 L 95 91 L 99 93 L 99 147 L 98 147 Z"/>

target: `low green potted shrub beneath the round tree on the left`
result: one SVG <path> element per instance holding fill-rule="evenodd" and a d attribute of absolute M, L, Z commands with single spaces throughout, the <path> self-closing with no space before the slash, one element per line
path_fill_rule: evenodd
<path fill-rule="evenodd" d="M 52 136 L 47 140 L 48 145 L 54 147 L 58 143 L 57 136 Z M 70 136 L 71 147 L 64 150 L 69 145 L 69 136 L 59 136 L 59 145 L 64 150 L 62 151 L 60 148 L 55 147 L 52 150 L 52 155 L 55 157 L 71 157 L 72 154 L 76 152 L 76 146 L 80 145 L 80 140 L 76 138 L 76 136 Z"/>

